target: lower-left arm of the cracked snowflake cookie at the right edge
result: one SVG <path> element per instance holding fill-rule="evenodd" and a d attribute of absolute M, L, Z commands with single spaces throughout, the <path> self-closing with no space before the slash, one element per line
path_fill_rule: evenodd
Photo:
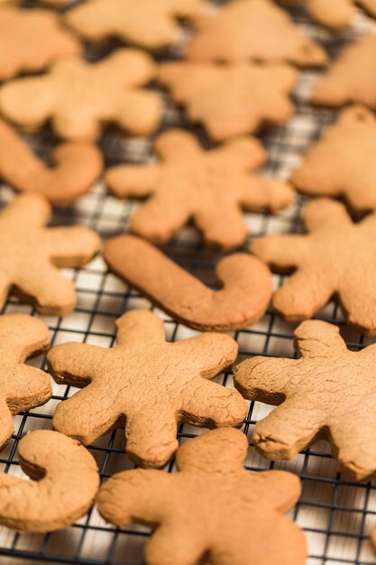
<path fill-rule="evenodd" d="M 291 459 L 314 440 L 325 421 L 326 412 L 315 398 L 305 403 L 288 400 L 257 422 L 253 442 L 268 459 Z"/>

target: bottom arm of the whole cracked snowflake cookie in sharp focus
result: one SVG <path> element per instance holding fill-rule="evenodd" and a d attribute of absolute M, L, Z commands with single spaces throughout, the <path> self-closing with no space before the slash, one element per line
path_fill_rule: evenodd
<path fill-rule="evenodd" d="M 125 436 L 133 461 L 142 467 L 163 467 L 179 446 L 174 406 L 170 410 L 166 403 L 154 404 L 128 415 Z"/>

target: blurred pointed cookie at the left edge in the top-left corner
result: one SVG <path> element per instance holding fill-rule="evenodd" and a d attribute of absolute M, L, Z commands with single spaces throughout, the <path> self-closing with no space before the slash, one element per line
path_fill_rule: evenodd
<path fill-rule="evenodd" d="M 79 42 L 60 27 L 58 15 L 47 10 L 2 6 L 0 30 L 0 80 L 81 53 Z"/>

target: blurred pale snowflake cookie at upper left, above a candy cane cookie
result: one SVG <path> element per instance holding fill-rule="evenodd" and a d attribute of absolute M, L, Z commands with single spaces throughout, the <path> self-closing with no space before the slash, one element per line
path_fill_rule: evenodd
<path fill-rule="evenodd" d="M 51 119 L 56 134 L 95 140 L 114 122 L 132 134 L 151 134 L 161 114 L 160 97 L 140 88 L 154 64 L 142 51 L 121 49 L 89 63 L 61 60 L 41 77 L 18 79 L 0 89 L 0 108 L 17 125 L 36 128 Z"/>

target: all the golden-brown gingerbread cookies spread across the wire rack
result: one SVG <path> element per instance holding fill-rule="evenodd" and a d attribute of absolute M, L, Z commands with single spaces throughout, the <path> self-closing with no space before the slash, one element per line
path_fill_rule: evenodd
<path fill-rule="evenodd" d="M 136 309 L 119 312 L 111 347 L 50 347 L 48 318 L 3 313 L 1 449 L 13 416 L 52 396 L 49 375 L 27 365 L 29 357 L 50 349 L 55 382 L 81 390 L 54 405 L 53 431 L 20 440 L 31 480 L 1 474 L 0 523 L 50 532 L 96 502 L 118 527 L 155 528 L 149 565 L 304 565 L 304 533 L 284 515 L 300 481 L 287 471 L 246 470 L 249 441 L 240 428 L 246 400 L 277 406 L 254 426 L 264 458 L 294 458 L 324 438 L 352 480 L 376 476 L 376 346 L 354 352 L 337 325 L 310 320 L 335 297 L 346 322 L 376 336 L 376 34 L 363 33 L 331 61 L 272 0 L 212 9 L 205 0 L 44 3 L 56 10 L 0 0 L 0 177 L 21 193 L 0 211 L 0 308 L 16 296 L 44 317 L 75 309 L 76 285 L 60 269 L 87 264 L 101 238 L 86 226 L 48 224 L 52 207 L 74 207 L 106 165 L 103 181 L 116 199 L 143 199 L 132 235 L 106 237 L 109 272 L 202 333 L 170 341 L 158 313 Z M 355 4 L 376 16 L 373 0 L 289 4 L 335 30 L 351 24 Z M 162 59 L 187 28 L 179 60 Z M 121 46 L 112 49 L 114 39 Z M 104 42 L 105 57 L 86 56 L 84 42 L 93 53 Z M 339 116 L 289 179 L 266 176 L 268 153 L 253 135 L 294 116 L 299 73 L 308 68 L 322 70 L 307 94 L 312 111 L 338 108 Z M 185 129 L 160 131 L 165 97 Z M 58 143 L 42 158 L 23 132 L 48 127 Z M 108 166 L 100 141 L 114 127 L 122 137 L 151 136 L 150 160 Z M 296 190 L 322 197 L 302 208 L 305 233 L 250 234 L 247 213 L 277 214 Z M 156 246 L 190 222 L 203 245 L 231 252 L 213 268 L 213 285 Z M 278 289 L 271 271 L 288 275 Z M 301 322 L 297 358 L 234 366 L 238 344 L 221 332 L 259 322 L 270 301 L 281 318 Z M 234 388 L 214 380 L 233 367 Z M 182 423 L 198 437 L 179 444 Z M 86 446 L 120 427 L 124 452 L 141 468 L 100 486 Z M 161 470 L 174 458 L 179 472 Z"/>

